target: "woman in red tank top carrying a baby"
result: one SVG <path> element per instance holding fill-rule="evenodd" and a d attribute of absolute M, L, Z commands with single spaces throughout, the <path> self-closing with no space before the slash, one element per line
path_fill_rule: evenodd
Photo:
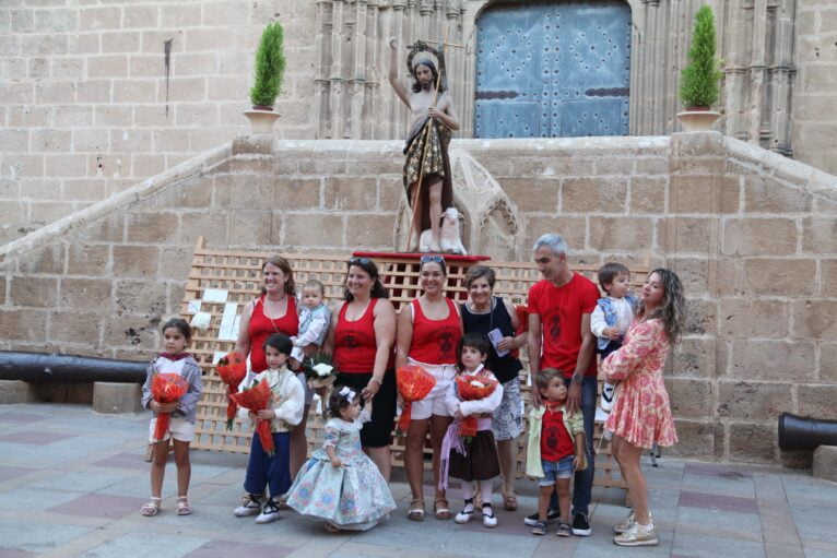
<path fill-rule="evenodd" d="M 268 368 L 264 359 L 264 341 L 273 333 L 296 335 L 299 328 L 299 317 L 296 309 L 296 287 L 294 272 L 287 260 L 281 256 L 272 256 L 261 268 L 261 296 L 248 302 L 241 311 L 241 322 L 236 353 L 250 355 L 250 367 L 254 372 Z M 316 347 L 314 347 L 316 349 Z M 305 378 L 300 380 L 306 388 L 306 404 L 303 420 L 291 431 L 291 476 L 295 477 L 299 467 L 305 463 L 308 443 L 305 438 L 305 426 L 310 406 L 310 395 Z"/>

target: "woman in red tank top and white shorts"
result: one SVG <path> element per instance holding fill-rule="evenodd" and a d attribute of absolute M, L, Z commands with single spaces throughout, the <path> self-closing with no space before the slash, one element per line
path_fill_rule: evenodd
<path fill-rule="evenodd" d="M 410 427 L 406 431 L 404 466 L 413 501 L 408 518 L 424 519 L 424 440 L 431 431 L 433 443 L 433 478 L 436 488 L 434 513 L 436 519 L 452 517 L 445 490 L 439 485 L 439 453 L 445 431 L 451 417 L 445 406 L 445 392 L 456 376 L 456 349 L 462 337 L 459 308 L 444 294 L 447 269 L 440 256 L 423 256 L 418 285 L 424 293 L 401 309 L 396 340 L 396 367 L 418 364 L 436 378 L 436 385 L 422 401 L 412 404 Z"/>

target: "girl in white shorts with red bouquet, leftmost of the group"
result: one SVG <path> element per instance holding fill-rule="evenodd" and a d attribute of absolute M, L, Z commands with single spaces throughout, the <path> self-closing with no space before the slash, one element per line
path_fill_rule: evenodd
<path fill-rule="evenodd" d="M 198 363 L 186 347 L 192 339 L 192 330 L 186 320 L 175 318 L 163 324 L 164 353 L 157 355 L 148 368 L 148 377 L 142 387 L 142 406 L 154 412 L 151 419 L 149 441 L 153 443 L 151 462 L 151 498 L 142 507 L 141 513 L 146 517 L 156 515 L 160 511 L 161 492 L 163 490 L 163 477 L 166 473 L 168 461 L 168 439 L 175 448 L 175 464 L 177 465 L 177 508 L 178 515 L 188 515 L 192 512 L 189 506 L 189 478 L 192 467 L 189 462 L 189 443 L 194 439 L 194 416 L 198 400 L 201 396 L 203 385 L 201 383 L 201 369 Z M 158 403 L 154 400 L 152 384 L 157 375 L 176 375 L 181 377 L 188 388 L 186 393 L 172 403 Z M 169 414 L 168 428 L 162 438 L 155 437 L 157 420 L 163 413 Z"/>

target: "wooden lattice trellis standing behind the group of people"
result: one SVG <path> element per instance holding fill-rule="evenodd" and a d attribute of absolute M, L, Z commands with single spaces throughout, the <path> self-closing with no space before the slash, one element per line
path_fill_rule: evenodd
<path fill-rule="evenodd" d="M 192 442 L 196 449 L 240 453 L 249 451 L 251 432 L 248 425 L 236 420 L 233 429 L 226 430 L 226 392 L 215 373 L 213 359 L 219 354 L 233 351 L 235 335 L 238 332 L 237 322 L 234 319 L 240 314 L 244 305 L 259 294 L 262 281 L 261 266 L 269 256 L 264 252 L 211 250 L 204 246 L 203 237 L 198 239 L 180 307 L 180 313 L 187 320 L 190 320 L 196 311 L 208 312 L 211 316 L 209 329 L 196 332 L 191 345 L 191 353 L 204 371 L 203 395 L 198 405 L 196 439 Z M 347 256 L 314 253 L 283 253 L 282 256 L 291 263 L 297 284 L 316 278 L 326 287 L 327 300 L 338 300 L 343 297 Z M 418 261 L 414 256 L 365 252 L 355 252 L 354 256 L 374 259 L 390 292 L 390 300 L 397 309 L 420 295 Z M 464 300 L 464 276 L 468 268 L 480 263 L 485 258 L 446 257 L 446 260 L 448 296 Z M 529 287 L 540 280 L 540 273 L 532 263 L 490 262 L 487 264 L 492 266 L 497 277 L 494 293 L 515 304 L 524 304 Z M 649 257 L 646 256 L 641 264 L 633 264 L 629 268 L 632 281 L 640 284 L 649 271 Z M 573 270 L 596 281 L 598 264 L 576 264 Z M 224 339 L 221 339 L 222 334 Z M 526 359 L 524 354 L 523 359 Z M 521 391 L 528 408 L 531 390 L 527 367 L 521 372 Z M 309 451 L 321 444 L 323 423 L 322 416 L 313 409 L 307 423 Z M 600 436 L 601 427 L 599 426 L 597 446 Z M 394 439 L 392 449 L 392 464 L 402 466 L 403 439 Z M 516 461 L 517 474 L 522 476 L 526 468 L 524 435 L 518 439 Z M 616 466 L 608 444 L 603 444 L 600 449 L 600 459 L 597 461 L 596 468 L 600 473 L 597 475 L 597 485 L 624 487 L 622 479 L 613 476 Z"/>

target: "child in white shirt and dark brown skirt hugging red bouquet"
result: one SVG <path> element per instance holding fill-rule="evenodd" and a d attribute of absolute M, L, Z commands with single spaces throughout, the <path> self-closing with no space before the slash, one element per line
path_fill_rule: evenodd
<path fill-rule="evenodd" d="M 497 517 L 494 515 L 492 508 L 492 489 L 494 479 L 500 474 L 500 468 L 492 432 L 492 414 L 503 401 L 503 385 L 483 365 L 488 358 L 490 346 L 488 337 L 482 333 L 465 333 L 459 342 L 458 381 L 448 388 L 445 396 L 448 411 L 455 418 L 446 440 L 450 440 L 453 448 L 449 449 L 447 455 L 443 450 L 441 459 L 448 460 L 450 476 L 462 479 L 462 496 L 465 503 L 462 511 L 457 513 L 455 521 L 457 523 L 471 521 L 474 513 L 473 482 L 476 480 L 482 491 L 483 525 L 495 527 Z M 491 389 L 491 385 L 494 385 L 494 389 L 483 399 L 468 401 L 461 392 L 460 383 L 464 382 L 484 391 L 487 391 L 485 388 Z M 473 437 L 462 438 L 457 434 L 458 427 L 467 417 L 476 418 L 476 434 Z M 445 444 L 446 448 L 447 446 L 448 443 Z"/>

